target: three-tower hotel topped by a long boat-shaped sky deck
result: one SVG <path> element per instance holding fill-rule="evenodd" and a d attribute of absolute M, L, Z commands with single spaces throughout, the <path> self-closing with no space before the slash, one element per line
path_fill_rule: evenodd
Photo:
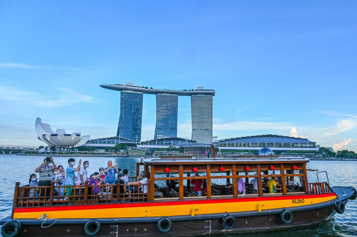
<path fill-rule="evenodd" d="M 178 96 L 191 96 L 192 140 L 212 142 L 212 98 L 214 90 L 161 90 L 125 85 L 100 85 L 102 88 L 120 91 L 120 116 L 116 136 L 141 140 L 142 100 L 144 94 L 156 95 L 156 126 L 154 139 L 177 137 Z"/>

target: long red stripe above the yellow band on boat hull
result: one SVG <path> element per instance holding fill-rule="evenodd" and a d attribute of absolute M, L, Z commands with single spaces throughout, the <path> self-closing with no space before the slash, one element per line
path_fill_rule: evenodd
<path fill-rule="evenodd" d="M 335 193 L 325 194 L 309 194 L 309 195 L 293 195 L 293 196 L 270 196 L 270 197 L 239 197 L 227 199 L 204 199 L 204 200 L 181 200 L 181 201 L 165 201 L 165 202 L 135 202 L 135 203 L 120 203 L 120 204 L 87 204 L 87 205 L 69 205 L 69 206 L 49 206 L 49 207 L 16 207 L 14 212 L 42 212 L 42 211 L 71 211 L 71 210 L 93 210 L 93 209 L 109 209 L 109 208 L 125 208 L 125 207 L 146 207 L 146 206 L 171 206 L 171 205 L 190 205 L 190 204 L 211 204 L 211 203 L 226 203 L 226 202 L 245 202 L 245 201 L 266 201 L 266 200 L 286 200 L 286 199 L 302 199 L 302 198 L 317 198 L 336 196 Z"/>

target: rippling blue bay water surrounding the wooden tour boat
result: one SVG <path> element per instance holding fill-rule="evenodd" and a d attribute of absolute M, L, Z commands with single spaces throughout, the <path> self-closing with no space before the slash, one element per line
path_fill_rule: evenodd
<path fill-rule="evenodd" d="M 34 170 L 38 167 L 45 157 L 35 156 L 0 156 L 0 177 L 2 179 L 0 188 L 0 218 L 4 218 L 11 214 L 11 206 L 14 195 L 15 182 L 19 181 L 22 184 L 29 182 L 30 173 L 35 173 Z M 54 157 L 56 165 L 63 165 L 67 167 L 67 160 L 69 157 Z M 100 167 L 106 167 L 109 160 L 121 169 L 129 169 L 135 175 L 136 162 L 140 158 L 127 157 L 75 157 L 78 163 L 79 159 L 82 161 L 89 161 L 88 174 L 97 172 Z M 77 165 L 75 165 L 77 167 Z M 322 161 L 311 160 L 307 164 L 310 169 L 318 169 L 320 171 L 326 170 L 331 186 L 353 186 L 357 188 L 356 167 L 355 161 Z M 323 175 L 321 175 L 323 177 Z M 317 181 L 316 172 L 308 172 L 309 182 Z M 321 179 L 320 179 L 321 181 Z M 325 181 L 325 180 L 322 180 Z M 245 234 L 247 237 L 258 236 L 300 236 L 300 237 L 324 237 L 324 236 L 357 236 L 357 199 L 349 201 L 346 204 L 346 211 L 344 214 L 336 214 L 331 221 L 320 225 L 311 227 L 295 228 L 291 230 L 281 230 L 274 232 L 262 232 Z M 224 236 L 236 237 L 241 234 L 228 234 Z"/>

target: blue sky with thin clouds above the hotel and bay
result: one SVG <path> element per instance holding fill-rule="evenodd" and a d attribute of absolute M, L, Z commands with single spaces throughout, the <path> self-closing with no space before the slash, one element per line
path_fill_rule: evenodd
<path fill-rule="evenodd" d="M 213 136 L 308 137 L 357 151 L 356 1 L 1 1 L 0 144 L 40 145 L 36 117 L 114 136 L 100 84 L 215 89 Z M 178 136 L 191 137 L 190 98 Z M 142 140 L 155 130 L 144 95 Z"/>

